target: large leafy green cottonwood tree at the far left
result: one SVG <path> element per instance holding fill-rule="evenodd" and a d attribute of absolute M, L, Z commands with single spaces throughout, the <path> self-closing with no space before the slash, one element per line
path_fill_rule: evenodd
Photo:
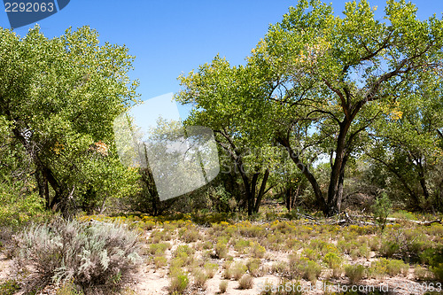
<path fill-rule="evenodd" d="M 116 158 L 112 124 L 136 99 L 133 57 L 98 43 L 89 27 L 52 39 L 39 27 L 24 37 L 0 28 L 0 116 L 31 159 L 46 206 L 62 212 L 68 199 L 124 194 L 136 180 Z"/>

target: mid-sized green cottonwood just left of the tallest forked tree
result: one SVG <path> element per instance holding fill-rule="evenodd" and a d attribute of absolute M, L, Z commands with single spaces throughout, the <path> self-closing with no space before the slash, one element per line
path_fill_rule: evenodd
<path fill-rule="evenodd" d="M 266 110 L 253 102 L 253 97 L 263 91 L 257 84 L 259 81 L 250 68 L 231 67 L 219 56 L 212 64 L 199 66 L 197 72 L 182 75 L 179 80 L 183 89 L 175 99 L 193 106 L 185 124 L 214 130 L 215 141 L 224 151 L 221 156 L 228 155 L 235 172 L 241 176 L 248 214 L 258 212 L 269 189 L 271 164 L 267 154 L 272 153 L 269 149 L 272 145 L 260 138 L 260 128 L 266 128 L 265 122 L 259 126 L 250 119 L 261 117 L 261 110 Z"/>

